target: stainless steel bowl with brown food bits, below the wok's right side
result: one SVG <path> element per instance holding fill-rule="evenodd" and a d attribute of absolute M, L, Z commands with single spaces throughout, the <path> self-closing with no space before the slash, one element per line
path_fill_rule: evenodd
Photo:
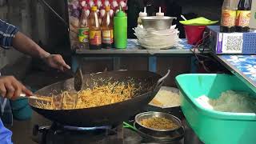
<path fill-rule="evenodd" d="M 154 118 L 154 117 L 170 119 L 171 121 L 173 121 L 177 125 L 177 128 L 175 128 L 175 129 L 166 129 L 166 130 L 158 130 L 158 129 L 154 129 L 154 128 L 150 128 L 150 127 L 142 125 L 141 122 L 142 122 L 143 119 Z M 144 133 L 155 135 L 155 136 L 162 136 L 162 135 L 171 134 L 175 130 L 179 130 L 179 129 L 182 128 L 181 120 L 178 119 L 177 117 L 175 117 L 174 115 L 166 114 L 166 113 L 162 113 L 162 112 L 155 112 L 155 111 L 149 111 L 149 112 L 137 114 L 135 116 L 135 122 L 138 124 L 138 126 L 142 127 L 142 131 Z"/>

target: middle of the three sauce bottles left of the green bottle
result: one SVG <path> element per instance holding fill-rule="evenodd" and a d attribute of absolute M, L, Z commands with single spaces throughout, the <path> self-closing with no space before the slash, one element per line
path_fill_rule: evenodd
<path fill-rule="evenodd" d="M 97 6 L 91 7 L 91 12 L 89 15 L 89 31 L 90 31 L 90 49 L 99 50 L 102 48 L 102 34 L 101 26 L 98 21 Z"/>

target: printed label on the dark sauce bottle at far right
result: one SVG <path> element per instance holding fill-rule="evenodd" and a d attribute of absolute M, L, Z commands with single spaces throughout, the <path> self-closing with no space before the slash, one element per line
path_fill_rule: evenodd
<path fill-rule="evenodd" d="M 236 26 L 248 27 L 250 23 L 250 10 L 238 10 Z"/>

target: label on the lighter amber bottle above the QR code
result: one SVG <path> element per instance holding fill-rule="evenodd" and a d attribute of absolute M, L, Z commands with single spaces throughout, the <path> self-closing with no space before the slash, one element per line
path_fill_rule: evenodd
<path fill-rule="evenodd" d="M 236 10 L 222 10 L 222 26 L 235 26 Z"/>

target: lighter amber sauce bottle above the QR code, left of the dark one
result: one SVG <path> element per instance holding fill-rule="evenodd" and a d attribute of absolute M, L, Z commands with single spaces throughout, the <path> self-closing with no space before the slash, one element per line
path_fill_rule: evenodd
<path fill-rule="evenodd" d="M 223 33 L 230 33 L 235 31 L 235 19 L 236 19 L 236 1 L 224 0 L 222 5 L 222 21 L 220 31 Z"/>

